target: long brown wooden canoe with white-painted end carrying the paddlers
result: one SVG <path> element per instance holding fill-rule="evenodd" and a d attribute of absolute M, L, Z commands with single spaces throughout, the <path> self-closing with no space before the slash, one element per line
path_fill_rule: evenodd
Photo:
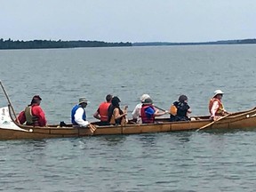
<path fill-rule="evenodd" d="M 5 113 L 8 108 L 5 108 Z M 3 113 L 0 111 L 0 113 Z M 8 117 L 11 122 L 8 126 L 0 124 L 0 140 L 20 140 L 20 139 L 44 139 L 44 138 L 66 138 L 66 137 L 84 137 L 92 135 L 120 135 L 120 134 L 139 134 L 145 132 L 174 132 L 197 130 L 212 120 L 209 116 L 194 116 L 195 121 L 188 122 L 169 122 L 167 118 L 156 119 L 156 124 L 132 124 L 98 126 L 95 132 L 90 132 L 88 128 L 74 128 L 71 124 L 66 127 L 60 127 L 59 124 L 48 125 L 47 127 L 33 127 L 17 124 L 13 121 L 8 111 Z M 6 123 L 6 121 L 5 121 Z M 92 123 L 93 124 L 93 123 Z M 97 124 L 97 123 L 94 123 Z M 251 110 L 233 113 L 226 118 L 221 119 L 207 127 L 209 129 L 243 129 L 256 127 L 256 108 Z"/>

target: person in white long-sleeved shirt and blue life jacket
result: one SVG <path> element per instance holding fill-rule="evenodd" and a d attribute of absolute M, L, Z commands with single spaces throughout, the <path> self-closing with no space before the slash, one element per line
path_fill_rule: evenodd
<path fill-rule="evenodd" d="M 86 121 L 85 108 L 88 104 L 88 100 L 84 97 L 79 99 L 78 104 L 71 110 L 71 121 L 73 126 L 87 127 L 89 122 Z"/>

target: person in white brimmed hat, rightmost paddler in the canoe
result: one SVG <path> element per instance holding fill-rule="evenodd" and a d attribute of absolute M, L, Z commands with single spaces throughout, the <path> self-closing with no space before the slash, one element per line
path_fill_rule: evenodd
<path fill-rule="evenodd" d="M 212 118 L 214 121 L 218 120 L 220 116 L 225 116 L 228 114 L 221 101 L 223 94 L 224 92 L 221 90 L 216 90 L 214 92 L 214 96 L 209 102 L 209 111 L 211 114 L 210 118 Z"/>

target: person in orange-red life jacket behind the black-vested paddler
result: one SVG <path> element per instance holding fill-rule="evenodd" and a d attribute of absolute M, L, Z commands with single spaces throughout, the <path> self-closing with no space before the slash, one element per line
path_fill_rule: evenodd
<path fill-rule="evenodd" d="M 108 94 L 106 96 L 106 101 L 102 102 L 97 109 L 97 111 L 93 114 L 94 118 L 100 119 L 100 125 L 109 125 L 108 122 L 108 108 L 111 104 L 113 96 Z"/>

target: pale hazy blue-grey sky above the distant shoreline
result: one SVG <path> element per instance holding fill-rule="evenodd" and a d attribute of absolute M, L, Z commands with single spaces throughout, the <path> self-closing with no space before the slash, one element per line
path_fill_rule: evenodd
<path fill-rule="evenodd" d="M 256 0 L 0 0 L 0 26 L 13 40 L 256 38 Z"/>

